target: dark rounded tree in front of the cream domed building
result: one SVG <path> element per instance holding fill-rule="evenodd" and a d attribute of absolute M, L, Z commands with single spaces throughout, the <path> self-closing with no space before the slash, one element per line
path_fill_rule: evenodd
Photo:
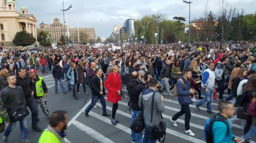
<path fill-rule="evenodd" d="M 17 46 L 28 46 L 32 45 L 36 41 L 32 34 L 27 32 L 18 32 L 15 34 L 13 43 Z"/>

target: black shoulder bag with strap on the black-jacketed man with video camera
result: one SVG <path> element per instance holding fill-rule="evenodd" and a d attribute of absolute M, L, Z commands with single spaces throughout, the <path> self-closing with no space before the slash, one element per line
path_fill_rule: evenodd
<path fill-rule="evenodd" d="M 142 102 L 141 113 L 135 118 L 135 120 L 132 122 L 130 126 L 131 130 L 133 130 L 133 132 L 135 133 L 141 133 L 145 128 L 144 114 L 143 114 L 144 106 L 143 106 L 142 96 L 141 96 L 141 102 Z"/>

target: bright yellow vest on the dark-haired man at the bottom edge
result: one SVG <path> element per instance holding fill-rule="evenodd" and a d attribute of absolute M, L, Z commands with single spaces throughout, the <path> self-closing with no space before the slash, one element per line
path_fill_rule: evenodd
<path fill-rule="evenodd" d="M 51 133 L 49 130 L 44 130 L 40 136 L 38 143 L 61 143 L 60 139 L 56 135 Z"/>

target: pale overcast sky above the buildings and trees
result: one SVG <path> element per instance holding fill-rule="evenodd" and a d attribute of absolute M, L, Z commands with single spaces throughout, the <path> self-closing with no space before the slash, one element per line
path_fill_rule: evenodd
<path fill-rule="evenodd" d="M 208 5 L 214 14 L 219 14 L 220 0 L 208 0 Z M 28 13 L 34 14 L 38 22 L 37 27 L 43 21 L 45 24 L 53 23 L 55 17 L 63 22 L 61 0 L 18 0 L 17 9 L 21 6 L 28 8 Z M 256 12 L 255 0 L 226 0 L 229 6 L 241 10 L 246 14 Z M 207 0 L 194 0 L 191 4 L 191 20 L 203 16 Z M 69 27 L 88 28 L 94 27 L 96 35 L 107 38 L 113 31 L 115 24 L 123 26 L 127 18 L 135 20 L 144 15 L 161 13 L 169 20 L 174 16 L 189 17 L 189 5 L 182 0 L 65 0 L 65 7 L 73 5 L 68 11 Z M 66 18 L 66 15 L 65 15 Z"/>

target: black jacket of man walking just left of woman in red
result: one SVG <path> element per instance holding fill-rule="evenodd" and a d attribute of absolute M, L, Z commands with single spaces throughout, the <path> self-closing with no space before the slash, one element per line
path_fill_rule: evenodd
<path fill-rule="evenodd" d="M 98 78 L 98 76 L 95 74 L 91 80 L 92 80 L 92 95 L 93 96 L 103 96 L 103 95 L 100 95 L 100 92 L 101 92 L 100 78 Z M 103 94 L 105 94 L 103 80 L 102 80 L 102 86 L 103 86 Z"/>

